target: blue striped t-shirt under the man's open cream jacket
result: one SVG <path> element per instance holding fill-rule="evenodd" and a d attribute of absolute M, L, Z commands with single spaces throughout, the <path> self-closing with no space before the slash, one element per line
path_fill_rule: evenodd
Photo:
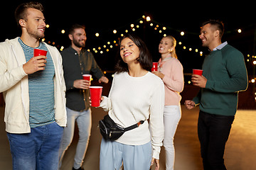
<path fill-rule="evenodd" d="M 25 45 L 21 38 L 18 38 L 26 62 L 33 57 L 33 47 Z M 48 51 L 45 44 L 40 43 L 37 49 Z M 46 55 L 46 69 L 28 74 L 28 91 L 29 91 L 29 124 L 31 128 L 41 125 L 47 125 L 55 121 L 55 98 L 54 98 L 54 81 L 55 76 L 53 60 L 50 52 Z"/>

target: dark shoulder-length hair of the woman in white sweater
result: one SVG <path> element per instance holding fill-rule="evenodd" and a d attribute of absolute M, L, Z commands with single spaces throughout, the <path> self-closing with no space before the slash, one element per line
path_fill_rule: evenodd
<path fill-rule="evenodd" d="M 119 41 L 119 47 L 121 45 L 122 40 L 124 40 L 124 38 L 129 38 L 134 42 L 135 45 L 137 45 L 137 47 L 139 47 L 139 57 L 137 60 L 139 61 L 139 64 L 142 66 L 143 69 L 150 71 L 153 66 L 152 57 L 150 55 L 148 48 L 146 47 L 145 42 L 141 38 L 139 38 L 137 35 L 127 34 L 127 35 L 124 35 L 122 39 Z M 116 72 L 117 73 L 128 72 L 128 65 L 122 60 L 122 57 L 120 56 L 120 48 L 118 50 L 117 55 L 118 55 L 117 64 L 115 67 Z"/>

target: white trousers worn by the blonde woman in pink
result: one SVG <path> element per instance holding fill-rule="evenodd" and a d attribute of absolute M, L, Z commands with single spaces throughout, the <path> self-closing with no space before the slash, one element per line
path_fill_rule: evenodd
<path fill-rule="evenodd" d="M 164 149 L 166 151 L 166 170 L 174 170 L 174 135 L 181 120 L 181 106 L 164 106 Z"/>

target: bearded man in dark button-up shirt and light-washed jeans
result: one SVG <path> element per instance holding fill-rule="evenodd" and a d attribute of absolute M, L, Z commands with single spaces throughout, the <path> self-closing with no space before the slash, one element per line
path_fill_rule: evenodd
<path fill-rule="evenodd" d="M 61 52 L 63 57 L 63 70 L 67 87 L 67 127 L 64 128 L 62 150 L 60 151 L 61 166 L 65 150 L 73 140 L 75 122 L 78 124 L 79 140 L 75 152 L 73 169 L 83 169 L 82 162 L 90 137 L 92 125 L 89 86 L 90 81 L 82 79 L 82 74 L 93 74 L 100 83 L 108 83 L 100 67 L 97 65 L 91 52 L 84 50 L 86 33 L 85 27 L 78 24 L 70 28 L 68 37 L 71 46 Z"/>

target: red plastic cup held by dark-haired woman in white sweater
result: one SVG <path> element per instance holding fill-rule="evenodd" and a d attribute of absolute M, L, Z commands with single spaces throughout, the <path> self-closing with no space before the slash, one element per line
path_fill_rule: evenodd
<path fill-rule="evenodd" d="M 99 107 L 100 106 L 100 98 L 102 95 L 102 86 L 90 86 L 90 98 L 91 98 L 91 106 Z"/>

